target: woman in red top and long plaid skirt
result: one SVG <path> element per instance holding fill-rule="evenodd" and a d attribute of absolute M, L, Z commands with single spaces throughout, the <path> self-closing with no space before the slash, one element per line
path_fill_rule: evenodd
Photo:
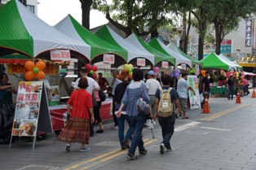
<path fill-rule="evenodd" d="M 58 137 L 60 141 L 68 142 L 67 151 L 70 151 L 71 142 L 81 143 L 80 151 L 90 150 L 90 148 L 86 147 L 86 144 L 89 144 L 89 121 L 94 122 L 94 112 L 91 96 L 86 91 L 88 87 L 86 77 L 80 79 L 78 87 L 79 89 L 73 91 L 67 103 L 70 119 Z M 71 107 L 73 107 L 72 110 Z"/>

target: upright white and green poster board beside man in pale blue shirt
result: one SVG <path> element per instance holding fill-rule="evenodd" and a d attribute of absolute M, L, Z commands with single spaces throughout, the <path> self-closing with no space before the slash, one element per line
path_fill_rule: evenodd
<path fill-rule="evenodd" d="M 199 82 L 198 82 L 197 76 L 188 75 L 188 84 L 196 92 L 196 96 L 194 96 L 192 90 L 188 90 L 190 109 L 201 108 L 201 101 L 200 101 L 200 94 L 199 94 Z"/>

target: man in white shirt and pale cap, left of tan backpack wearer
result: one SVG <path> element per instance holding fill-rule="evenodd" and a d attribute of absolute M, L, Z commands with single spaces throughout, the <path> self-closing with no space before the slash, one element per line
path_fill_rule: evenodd
<path fill-rule="evenodd" d="M 155 79 L 154 72 L 149 71 L 148 72 L 148 80 L 146 81 L 146 87 L 148 89 L 148 95 L 150 98 L 150 105 L 152 110 L 152 115 L 155 115 L 155 106 L 156 106 L 156 91 L 161 87 L 159 81 Z"/>

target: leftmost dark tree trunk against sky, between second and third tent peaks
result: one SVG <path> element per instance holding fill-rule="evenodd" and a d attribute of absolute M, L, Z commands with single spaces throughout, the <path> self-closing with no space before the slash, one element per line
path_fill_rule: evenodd
<path fill-rule="evenodd" d="M 92 0 L 80 0 L 82 7 L 82 26 L 90 30 L 90 6 Z"/>

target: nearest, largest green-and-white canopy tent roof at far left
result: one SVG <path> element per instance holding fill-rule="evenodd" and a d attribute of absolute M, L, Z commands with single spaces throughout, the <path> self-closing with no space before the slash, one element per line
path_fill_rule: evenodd
<path fill-rule="evenodd" d="M 90 46 L 60 33 L 28 11 L 18 0 L 11 0 L 0 7 L 0 16 L 1 50 L 11 49 L 37 57 L 49 50 L 65 49 L 90 59 Z"/>

